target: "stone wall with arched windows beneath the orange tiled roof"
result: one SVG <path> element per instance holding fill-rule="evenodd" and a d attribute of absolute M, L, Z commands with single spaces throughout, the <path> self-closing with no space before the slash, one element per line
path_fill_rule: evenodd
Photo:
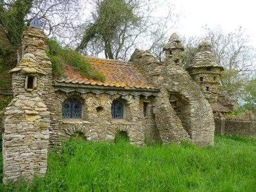
<path fill-rule="evenodd" d="M 82 103 L 81 119 L 62 118 L 62 103 L 67 98 L 76 98 Z M 117 99 L 124 106 L 124 118 L 112 119 L 111 104 Z M 56 92 L 56 115 L 60 128 L 62 139 L 70 138 L 73 133 L 82 132 L 87 140 L 114 140 L 118 131 L 127 132 L 130 142 L 133 144 L 144 145 L 145 135 L 150 139 L 158 139 L 157 134 L 153 133 L 155 124 L 152 112 L 148 117 L 143 115 L 143 101 L 139 97 L 134 98 L 132 95 L 120 96 L 108 94 L 99 94 L 96 97 L 93 93 L 81 95 L 77 92 L 63 93 Z M 146 99 L 151 102 L 151 99 Z M 152 107 L 148 105 L 148 110 Z M 97 108 L 101 107 L 99 111 Z M 144 122 L 150 121 L 151 124 L 145 126 Z M 149 130 L 147 130 L 149 129 Z"/>

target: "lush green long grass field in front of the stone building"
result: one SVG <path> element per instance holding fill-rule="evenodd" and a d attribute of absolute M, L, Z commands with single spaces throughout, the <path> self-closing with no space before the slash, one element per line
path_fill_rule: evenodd
<path fill-rule="evenodd" d="M 1 183 L 0 191 L 254 192 L 255 146 L 255 138 L 218 135 L 215 146 L 206 148 L 187 142 L 136 147 L 76 138 L 49 156 L 45 179 Z"/>

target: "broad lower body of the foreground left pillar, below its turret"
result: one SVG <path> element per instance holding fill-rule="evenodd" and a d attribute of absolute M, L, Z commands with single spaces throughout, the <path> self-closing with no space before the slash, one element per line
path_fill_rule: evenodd
<path fill-rule="evenodd" d="M 49 142 L 49 112 L 41 98 L 31 93 L 16 96 L 4 113 L 4 179 L 30 180 L 45 176 Z"/>

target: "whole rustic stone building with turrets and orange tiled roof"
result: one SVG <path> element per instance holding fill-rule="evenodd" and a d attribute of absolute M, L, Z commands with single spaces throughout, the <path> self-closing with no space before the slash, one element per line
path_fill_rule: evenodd
<path fill-rule="evenodd" d="M 222 67 L 205 42 L 188 69 L 196 81 L 181 67 L 184 48 L 174 33 L 164 47 L 163 63 L 139 49 L 130 61 L 84 57 L 105 76 L 101 82 L 72 66 L 63 69 L 63 76 L 52 77 L 45 39 L 41 29 L 28 27 L 20 62 L 10 70 L 14 99 L 3 112 L 4 182 L 43 176 L 47 144 L 61 145 L 74 133 L 97 141 L 114 140 L 121 132 L 140 146 L 184 139 L 200 146 L 214 144 L 210 103 L 217 99 Z M 210 94 L 200 90 L 201 76 Z"/>

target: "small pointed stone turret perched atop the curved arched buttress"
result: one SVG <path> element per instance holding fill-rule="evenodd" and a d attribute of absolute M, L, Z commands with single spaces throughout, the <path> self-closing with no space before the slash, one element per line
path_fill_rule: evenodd
<path fill-rule="evenodd" d="M 181 52 L 184 51 L 184 48 L 176 33 L 173 33 L 170 36 L 167 45 L 163 48 L 163 51 L 165 51 L 167 65 L 181 66 Z"/>

